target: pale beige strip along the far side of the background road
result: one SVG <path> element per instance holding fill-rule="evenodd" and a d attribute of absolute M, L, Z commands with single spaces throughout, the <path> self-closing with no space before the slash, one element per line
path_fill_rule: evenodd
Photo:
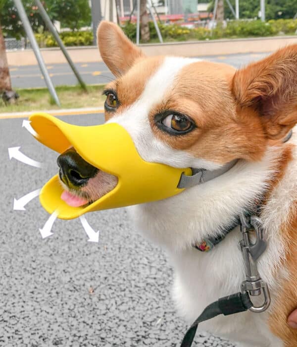
<path fill-rule="evenodd" d="M 265 38 L 146 44 L 140 45 L 140 47 L 148 56 L 180 56 L 182 54 L 184 57 L 199 57 L 238 53 L 271 52 L 295 43 L 297 43 L 297 36 L 277 36 Z M 67 50 L 75 63 L 102 61 L 96 46 L 68 47 Z M 46 64 L 66 62 L 62 52 L 57 48 L 42 49 L 41 53 Z M 34 52 L 32 50 L 7 51 L 7 58 L 10 66 L 37 64 Z"/>

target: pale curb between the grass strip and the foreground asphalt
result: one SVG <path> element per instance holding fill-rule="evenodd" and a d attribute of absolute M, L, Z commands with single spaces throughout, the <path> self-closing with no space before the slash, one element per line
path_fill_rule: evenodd
<path fill-rule="evenodd" d="M 43 110 L 43 111 L 26 111 L 26 112 L 11 112 L 0 113 L 0 119 L 9 118 L 27 118 L 34 113 L 45 112 L 51 116 L 73 116 L 73 115 L 91 115 L 104 113 L 103 108 L 83 108 L 83 109 L 62 109 L 62 110 Z"/>

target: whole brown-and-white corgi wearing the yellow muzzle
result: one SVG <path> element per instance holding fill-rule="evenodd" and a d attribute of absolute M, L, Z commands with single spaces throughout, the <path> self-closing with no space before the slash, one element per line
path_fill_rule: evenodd
<path fill-rule="evenodd" d="M 297 305 L 296 131 L 284 139 L 297 123 L 297 45 L 238 70 L 197 58 L 146 57 L 106 21 L 98 45 L 116 77 L 104 89 L 106 122 L 124 127 L 145 161 L 207 172 L 233 163 L 178 195 L 128 207 L 136 228 L 171 260 L 180 314 L 190 323 L 206 305 L 240 290 L 246 274 L 240 226 L 212 249 L 203 241 L 257 204 L 267 241 L 257 266 L 270 307 L 218 316 L 199 329 L 238 346 L 296 347 L 297 330 L 287 324 Z M 117 184 L 74 149 L 59 157 L 60 172 L 67 161 L 78 168 L 60 174 L 69 205 L 96 201 Z"/>

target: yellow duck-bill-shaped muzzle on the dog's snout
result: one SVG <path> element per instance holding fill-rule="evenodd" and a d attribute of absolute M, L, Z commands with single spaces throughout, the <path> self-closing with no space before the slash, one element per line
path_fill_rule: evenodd
<path fill-rule="evenodd" d="M 141 204 L 179 194 L 182 173 L 191 175 L 190 168 L 178 169 L 144 161 L 137 152 L 129 133 L 117 123 L 78 126 L 65 123 L 46 113 L 30 116 L 37 139 L 58 153 L 74 147 L 88 163 L 118 177 L 110 192 L 88 206 L 71 207 L 61 199 L 63 188 L 58 175 L 42 188 L 40 201 L 50 214 L 57 210 L 58 218 L 73 219 L 86 212 Z"/>

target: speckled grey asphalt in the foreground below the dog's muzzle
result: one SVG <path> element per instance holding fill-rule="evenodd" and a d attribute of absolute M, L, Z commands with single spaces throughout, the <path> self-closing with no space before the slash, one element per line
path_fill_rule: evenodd
<path fill-rule="evenodd" d="M 62 118 L 102 122 L 102 115 Z M 21 124 L 0 120 L 0 346 L 179 346 L 186 324 L 171 301 L 172 269 L 162 250 L 133 230 L 125 209 L 87 215 L 99 243 L 87 241 L 79 220 L 57 220 L 43 240 L 39 228 L 49 215 L 37 198 L 13 211 L 13 198 L 57 172 L 56 153 Z M 44 168 L 9 161 L 14 146 Z M 203 333 L 194 346 L 232 345 Z"/>

